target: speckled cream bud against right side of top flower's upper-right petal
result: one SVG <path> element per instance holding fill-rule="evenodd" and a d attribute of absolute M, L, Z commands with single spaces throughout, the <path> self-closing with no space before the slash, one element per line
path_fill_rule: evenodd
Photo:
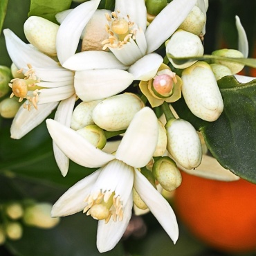
<path fill-rule="evenodd" d="M 188 31 L 194 35 L 200 35 L 205 24 L 206 17 L 199 7 L 194 6 L 188 17 L 179 26 L 180 29 Z"/>

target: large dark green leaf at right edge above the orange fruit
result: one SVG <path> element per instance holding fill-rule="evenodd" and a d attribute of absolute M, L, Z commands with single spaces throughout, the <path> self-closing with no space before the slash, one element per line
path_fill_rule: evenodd
<path fill-rule="evenodd" d="M 235 77 L 226 76 L 218 84 L 224 110 L 216 121 L 196 118 L 184 100 L 173 107 L 202 131 L 210 152 L 223 167 L 256 183 L 256 80 L 240 84 Z"/>

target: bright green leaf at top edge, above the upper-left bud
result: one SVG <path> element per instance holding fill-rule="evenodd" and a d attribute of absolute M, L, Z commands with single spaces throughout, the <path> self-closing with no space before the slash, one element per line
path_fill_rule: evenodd
<path fill-rule="evenodd" d="M 70 8 L 71 2 L 72 0 L 31 0 L 28 17 L 39 16 L 56 23 L 57 12 Z"/>

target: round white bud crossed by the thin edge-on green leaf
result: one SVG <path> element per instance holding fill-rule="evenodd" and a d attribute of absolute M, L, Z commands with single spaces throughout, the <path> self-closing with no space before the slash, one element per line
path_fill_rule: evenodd
<path fill-rule="evenodd" d="M 196 62 L 194 61 L 184 61 L 172 60 L 170 55 L 174 57 L 194 57 L 203 56 L 203 44 L 201 39 L 187 31 L 177 30 L 166 46 L 167 57 L 175 68 L 187 68 Z"/>

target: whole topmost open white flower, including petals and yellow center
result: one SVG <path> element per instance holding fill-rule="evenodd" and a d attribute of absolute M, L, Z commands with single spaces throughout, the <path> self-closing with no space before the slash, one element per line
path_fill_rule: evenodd
<path fill-rule="evenodd" d="M 109 38 L 102 42 L 103 49 L 109 48 L 111 53 L 85 51 L 63 63 L 76 71 L 78 97 L 83 101 L 100 100 L 127 89 L 133 80 L 151 80 L 163 63 L 163 57 L 153 51 L 174 33 L 195 3 L 196 0 L 174 0 L 147 27 L 144 0 L 117 0 L 113 18 L 106 15 Z M 125 29 L 124 37 L 121 34 Z M 86 82 L 80 86 L 85 77 Z"/>

